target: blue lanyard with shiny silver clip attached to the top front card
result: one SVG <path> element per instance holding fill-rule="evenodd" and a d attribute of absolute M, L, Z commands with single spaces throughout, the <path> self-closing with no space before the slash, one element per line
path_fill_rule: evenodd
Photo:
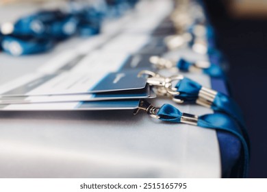
<path fill-rule="evenodd" d="M 168 96 L 178 104 L 199 104 L 233 117 L 240 125 L 246 142 L 249 143 L 249 135 L 244 125 L 242 111 L 236 102 L 227 95 L 201 86 L 201 84 L 183 77 L 183 75 L 163 77 L 152 71 L 141 71 L 139 76 L 142 75 L 148 76 L 147 83 L 154 88 L 157 95 Z M 177 84 L 173 86 L 175 82 Z"/>

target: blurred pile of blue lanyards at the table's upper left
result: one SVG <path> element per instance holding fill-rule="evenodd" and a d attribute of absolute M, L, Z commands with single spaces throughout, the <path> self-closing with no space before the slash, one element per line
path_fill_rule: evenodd
<path fill-rule="evenodd" d="M 71 36 L 92 36 L 101 32 L 105 18 L 118 17 L 138 0 L 105 0 L 94 4 L 69 3 L 67 11 L 40 10 L 0 25 L 0 49 L 13 56 L 40 53 Z"/>

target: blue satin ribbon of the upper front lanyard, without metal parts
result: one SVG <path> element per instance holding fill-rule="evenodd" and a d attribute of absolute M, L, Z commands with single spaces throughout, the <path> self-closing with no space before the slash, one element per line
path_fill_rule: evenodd
<path fill-rule="evenodd" d="M 199 91 L 202 86 L 201 84 L 184 77 L 183 80 L 180 80 L 177 83 L 175 88 L 177 88 L 177 91 L 179 92 L 179 95 L 175 95 L 176 99 L 181 99 L 185 103 L 195 103 L 196 99 L 199 98 Z M 240 124 L 240 128 L 242 128 L 246 141 L 249 143 L 249 136 L 246 132 L 242 111 L 233 99 L 218 92 L 214 98 L 211 108 L 215 111 L 225 112 L 227 115 L 236 119 L 236 121 Z"/>

